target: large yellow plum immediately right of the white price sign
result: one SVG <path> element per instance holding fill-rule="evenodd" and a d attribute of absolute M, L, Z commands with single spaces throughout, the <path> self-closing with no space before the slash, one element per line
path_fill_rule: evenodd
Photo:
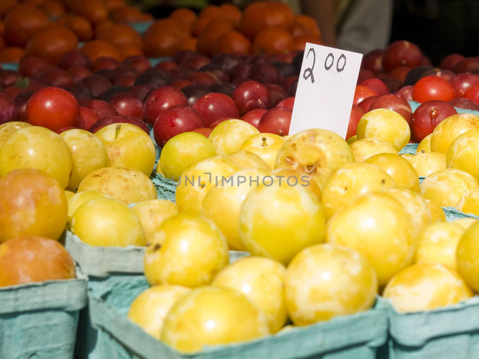
<path fill-rule="evenodd" d="M 358 140 L 377 138 L 394 146 L 397 151 L 406 146 L 411 138 L 409 124 L 398 112 L 376 109 L 366 112 L 358 122 Z"/>

